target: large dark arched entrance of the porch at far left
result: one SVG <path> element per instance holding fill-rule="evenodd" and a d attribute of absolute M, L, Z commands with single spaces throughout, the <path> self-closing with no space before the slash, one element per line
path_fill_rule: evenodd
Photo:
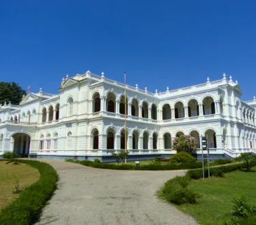
<path fill-rule="evenodd" d="M 20 155 L 27 156 L 29 154 L 30 140 L 31 137 L 25 133 L 12 135 L 12 150 Z"/>

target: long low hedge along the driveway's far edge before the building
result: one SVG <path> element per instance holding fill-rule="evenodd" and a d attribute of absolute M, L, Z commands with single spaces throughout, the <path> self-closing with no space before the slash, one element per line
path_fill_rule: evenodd
<path fill-rule="evenodd" d="M 152 162 L 149 165 L 118 165 L 113 163 L 104 163 L 104 162 L 92 162 L 89 160 L 72 160 L 67 159 L 66 162 L 79 163 L 87 167 L 94 167 L 99 169 L 117 169 L 117 170 L 139 170 L 139 171 L 168 171 L 168 170 L 177 170 L 177 169 L 197 169 L 202 167 L 202 162 L 193 162 L 193 163 L 180 163 L 180 164 L 165 164 L 160 165 L 159 163 Z"/>

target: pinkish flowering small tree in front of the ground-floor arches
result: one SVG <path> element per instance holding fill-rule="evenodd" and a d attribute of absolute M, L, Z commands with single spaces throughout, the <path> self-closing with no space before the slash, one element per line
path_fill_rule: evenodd
<path fill-rule="evenodd" d="M 177 152 L 194 153 L 197 150 L 197 141 L 191 135 L 181 135 L 173 141 L 173 149 Z"/>

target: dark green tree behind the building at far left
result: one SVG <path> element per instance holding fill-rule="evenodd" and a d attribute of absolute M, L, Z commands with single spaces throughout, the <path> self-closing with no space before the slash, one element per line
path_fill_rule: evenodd
<path fill-rule="evenodd" d="M 26 92 L 15 82 L 0 82 L 0 104 L 11 102 L 18 105 Z"/>

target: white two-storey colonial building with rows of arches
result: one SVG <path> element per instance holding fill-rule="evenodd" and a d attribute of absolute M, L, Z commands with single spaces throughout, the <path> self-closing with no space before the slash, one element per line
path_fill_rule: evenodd
<path fill-rule="evenodd" d="M 125 147 L 130 158 L 175 154 L 178 135 L 208 135 L 212 157 L 255 152 L 256 99 L 222 80 L 155 93 L 126 86 L 90 71 L 63 78 L 59 94 L 29 93 L 20 105 L 0 105 L 0 155 L 111 160 Z M 125 105 L 126 104 L 126 105 Z M 125 111 L 126 109 L 126 111 Z M 200 150 L 198 150 L 200 151 Z"/>

